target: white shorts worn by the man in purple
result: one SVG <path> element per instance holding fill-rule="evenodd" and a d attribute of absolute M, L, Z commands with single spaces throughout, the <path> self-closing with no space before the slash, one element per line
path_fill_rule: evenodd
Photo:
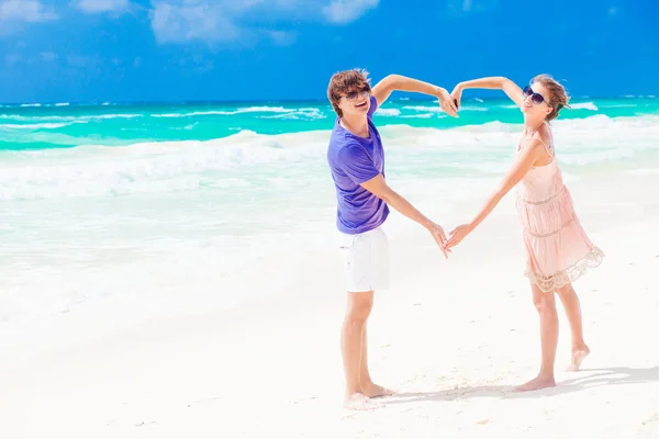
<path fill-rule="evenodd" d="M 339 247 L 348 292 L 389 289 L 389 239 L 381 227 L 357 235 L 342 233 Z"/>

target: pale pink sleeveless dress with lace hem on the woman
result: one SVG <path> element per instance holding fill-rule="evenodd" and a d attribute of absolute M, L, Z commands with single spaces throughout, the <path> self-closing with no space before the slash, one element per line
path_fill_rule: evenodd
<path fill-rule="evenodd" d="M 530 136 L 533 133 L 522 139 L 517 154 Z M 591 243 L 574 213 L 556 162 L 554 137 L 549 147 L 540 143 L 552 159 L 524 176 L 517 184 L 515 204 L 527 254 L 525 275 L 543 292 L 550 292 L 597 267 L 604 254 Z"/>

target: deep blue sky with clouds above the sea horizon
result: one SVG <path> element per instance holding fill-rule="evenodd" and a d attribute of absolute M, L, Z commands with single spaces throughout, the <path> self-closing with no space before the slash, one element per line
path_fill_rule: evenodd
<path fill-rule="evenodd" d="M 658 18 L 655 0 L 0 0 L 0 102 L 324 99 L 351 67 L 659 94 Z"/>

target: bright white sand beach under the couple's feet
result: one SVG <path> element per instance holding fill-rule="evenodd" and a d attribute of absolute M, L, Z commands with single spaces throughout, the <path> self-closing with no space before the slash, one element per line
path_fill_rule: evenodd
<path fill-rule="evenodd" d="M 328 251 L 260 306 L 14 348 L 0 364 L 0 438 L 659 437 L 659 199 L 630 200 L 628 183 L 615 190 L 629 205 L 607 198 L 614 182 L 572 191 L 606 258 L 574 284 L 592 349 L 578 373 L 563 371 L 559 308 L 555 389 L 511 392 L 535 376 L 539 336 L 506 201 L 449 261 L 417 228 L 392 239 L 393 285 L 376 297 L 369 353 L 376 381 L 401 394 L 378 410 L 342 408 L 345 293 Z"/>

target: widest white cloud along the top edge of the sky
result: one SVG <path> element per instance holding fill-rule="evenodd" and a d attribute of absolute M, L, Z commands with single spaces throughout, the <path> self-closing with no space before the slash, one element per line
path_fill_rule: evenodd
<path fill-rule="evenodd" d="M 249 43 L 266 38 L 289 45 L 295 33 L 282 29 L 282 24 L 345 24 L 378 3 L 379 0 L 152 0 L 150 21 L 160 44 Z"/>

